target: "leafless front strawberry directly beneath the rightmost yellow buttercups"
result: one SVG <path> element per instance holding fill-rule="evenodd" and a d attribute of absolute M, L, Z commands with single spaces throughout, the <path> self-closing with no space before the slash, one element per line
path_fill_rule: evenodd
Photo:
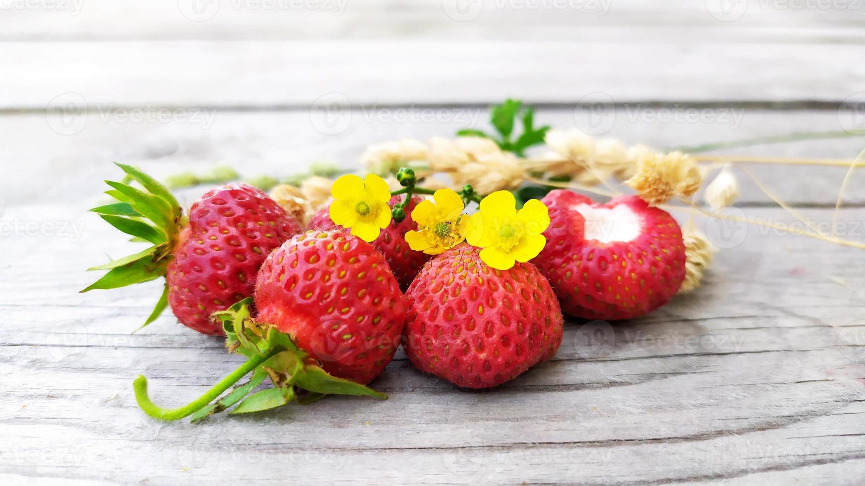
<path fill-rule="evenodd" d="M 408 287 L 403 348 L 418 369 L 465 388 L 494 387 L 552 357 L 559 302 L 531 263 L 488 267 L 461 244 L 428 262 Z"/>

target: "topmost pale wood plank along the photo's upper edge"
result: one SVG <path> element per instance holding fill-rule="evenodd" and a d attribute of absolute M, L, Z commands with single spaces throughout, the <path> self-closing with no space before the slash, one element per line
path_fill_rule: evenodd
<path fill-rule="evenodd" d="M 15 5 L 15 3 L 11 3 Z M 668 0 L 503 2 L 459 5 L 439 0 L 367 0 L 351 3 L 200 3 L 154 0 L 117 3 L 72 0 L 56 8 L 10 8 L 0 17 L 0 40 L 238 40 L 238 39 L 526 39 L 631 41 L 862 41 L 862 5 L 854 2 L 766 3 Z M 798 7 L 798 8 L 796 8 Z M 119 22 L 118 19 L 123 19 Z"/>

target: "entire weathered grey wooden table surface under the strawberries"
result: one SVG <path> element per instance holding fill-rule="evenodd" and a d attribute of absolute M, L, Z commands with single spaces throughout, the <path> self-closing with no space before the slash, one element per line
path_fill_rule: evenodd
<path fill-rule="evenodd" d="M 861 5 L 715 3 L 375 0 L 339 15 L 4 3 L 0 481 L 862 483 L 862 249 L 755 226 L 718 237 L 699 220 L 723 247 L 699 291 L 644 319 L 571 322 L 554 359 L 499 388 L 459 390 L 400 351 L 374 383 L 388 401 L 330 397 L 195 425 L 150 420 L 132 378 L 179 404 L 240 359 L 170 314 L 131 334 L 158 284 L 76 293 L 94 278 L 85 268 L 133 247 L 84 211 L 119 177 L 112 160 L 159 177 L 216 163 L 245 175 L 356 167 L 372 142 L 484 128 L 486 106 L 508 96 L 560 128 L 599 102 L 606 135 L 657 147 L 863 128 L 843 104 L 863 96 Z M 324 102 L 336 124 L 322 124 Z M 845 138 L 716 153 L 861 149 Z M 804 217 L 832 221 L 844 167 L 746 167 Z M 795 221 L 740 180 L 740 214 Z M 862 182 L 853 174 L 838 213 L 857 242 Z"/>

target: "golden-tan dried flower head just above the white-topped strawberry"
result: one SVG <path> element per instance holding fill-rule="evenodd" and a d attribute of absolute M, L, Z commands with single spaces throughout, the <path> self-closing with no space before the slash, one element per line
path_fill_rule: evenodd
<path fill-rule="evenodd" d="M 690 155 L 682 152 L 661 155 L 646 150 L 637 156 L 637 174 L 625 184 L 649 205 L 660 205 L 673 197 L 686 198 L 700 188 L 700 169 Z"/>

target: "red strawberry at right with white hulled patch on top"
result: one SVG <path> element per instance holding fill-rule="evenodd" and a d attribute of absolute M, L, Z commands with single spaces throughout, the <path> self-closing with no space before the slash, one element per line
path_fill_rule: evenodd
<path fill-rule="evenodd" d="M 609 204 L 552 191 L 547 246 L 533 260 L 562 310 L 585 319 L 633 319 L 663 306 L 685 277 L 682 230 L 637 196 Z"/>

